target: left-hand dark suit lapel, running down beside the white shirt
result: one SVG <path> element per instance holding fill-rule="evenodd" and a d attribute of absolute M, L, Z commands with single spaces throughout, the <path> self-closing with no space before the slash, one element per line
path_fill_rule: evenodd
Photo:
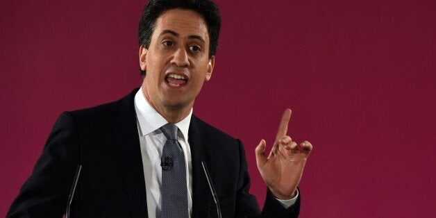
<path fill-rule="evenodd" d="M 126 186 L 128 205 L 132 217 L 147 217 L 146 190 L 133 90 L 127 97 L 117 101 L 112 108 L 115 116 L 110 119 L 114 145 L 118 154 L 121 175 Z"/>

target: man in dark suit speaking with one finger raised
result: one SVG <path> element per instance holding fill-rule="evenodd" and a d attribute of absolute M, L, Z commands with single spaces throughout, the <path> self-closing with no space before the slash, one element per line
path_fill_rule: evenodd
<path fill-rule="evenodd" d="M 268 158 L 265 140 L 255 151 L 268 186 L 262 212 L 249 194 L 241 142 L 192 115 L 212 76 L 219 26 L 211 1 L 151 0 L 140 20 L 140 89 L 62 113 L 8 217 L 61 217 L 77 165 L 72 217 L 215 217 L 202 162 L 223 217 L 298 217 L 296 187 L 312 145 L 299 149 L 287 136 L 289 109 Z"/>

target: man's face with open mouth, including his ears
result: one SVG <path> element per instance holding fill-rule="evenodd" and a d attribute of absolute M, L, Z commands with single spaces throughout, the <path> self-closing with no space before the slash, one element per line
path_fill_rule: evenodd
<path fill-rule="evenodd" d="M 190 109 L 212 75 L 215 57 L 208 54 L 208 28 L 201 15 L 181 9 L 160 15 L 149 49 L 140 48 L 140 66 L 146 71 L 142 90 L 153 108 Z"/>

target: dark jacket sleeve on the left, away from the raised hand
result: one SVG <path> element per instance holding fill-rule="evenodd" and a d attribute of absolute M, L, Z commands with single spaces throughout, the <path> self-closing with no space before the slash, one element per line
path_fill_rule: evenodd
<path fill-rule="evenodd" d="M 78 165 L 78 131 L 63 112 L 6 217 L 62 217 Z"/>

